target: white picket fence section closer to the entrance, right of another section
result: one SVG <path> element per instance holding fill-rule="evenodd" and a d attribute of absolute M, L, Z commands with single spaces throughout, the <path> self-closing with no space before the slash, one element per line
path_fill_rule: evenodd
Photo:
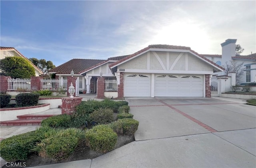
<path fill-rule="evenodd" d="M 67 90 L 68 80 L 59 79 L 41 79 L 41 90 L 57 91 L 59 89 Z"/>

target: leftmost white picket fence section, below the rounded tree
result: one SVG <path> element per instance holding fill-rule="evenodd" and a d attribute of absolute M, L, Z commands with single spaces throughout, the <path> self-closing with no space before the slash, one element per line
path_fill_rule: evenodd
<path fill-rule="evenodd" d="M 31 87 L 31 80 L 30 79 L 8 79 L 8 89 L 10 91 L 15 90 L 30 90 Z"/>

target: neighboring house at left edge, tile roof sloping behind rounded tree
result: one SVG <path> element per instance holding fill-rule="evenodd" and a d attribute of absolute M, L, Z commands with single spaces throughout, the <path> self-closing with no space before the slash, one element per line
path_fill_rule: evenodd
<path fill-rule="evenodd" d="M 24 59 L 28 60 L 28 58 L 26 58 L 24 55 L 22 55 L 22 53 L 20 53 L 14 47 L 0 47 L 0 51 L 1 51 L 0 52 L 0 59 L 4 59 L 5 57 L 20 56 L 20 57 L 23 57 Z M 39 76 L 39 75 L 43 74 L 43 72 L 38 67 L 36 67 L 36 65 L 34 65 L 32 63 L 31 63 L 31 65 L 35 69 L 35 75 L 36 76 Z"/>

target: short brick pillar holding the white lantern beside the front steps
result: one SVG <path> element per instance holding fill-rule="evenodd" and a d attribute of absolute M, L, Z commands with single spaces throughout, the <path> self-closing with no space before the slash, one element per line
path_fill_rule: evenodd
<path fill-rule="evenodd" d="M 62 108 L 61 108 L 61 114 L 68 114 L 71 115 L 76 106 L 79 105 L 82 102 L 82 97 L 63 97 L 62 99 Z"/>

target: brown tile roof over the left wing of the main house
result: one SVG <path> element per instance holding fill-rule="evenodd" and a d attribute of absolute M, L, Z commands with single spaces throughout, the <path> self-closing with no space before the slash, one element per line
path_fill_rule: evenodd
<path fill-rule="evenodd" d="M 71 59 L 70 61 L 59 65 L 58 67 L 51 69 L 50 72 L 56 72 L 58 74 L 70 74 L 74 71 L 74 74 L 79 74 L 80 71 L 89 67 L 95 66 L 98 63 L 102 63 L 102 59 Z"/>

